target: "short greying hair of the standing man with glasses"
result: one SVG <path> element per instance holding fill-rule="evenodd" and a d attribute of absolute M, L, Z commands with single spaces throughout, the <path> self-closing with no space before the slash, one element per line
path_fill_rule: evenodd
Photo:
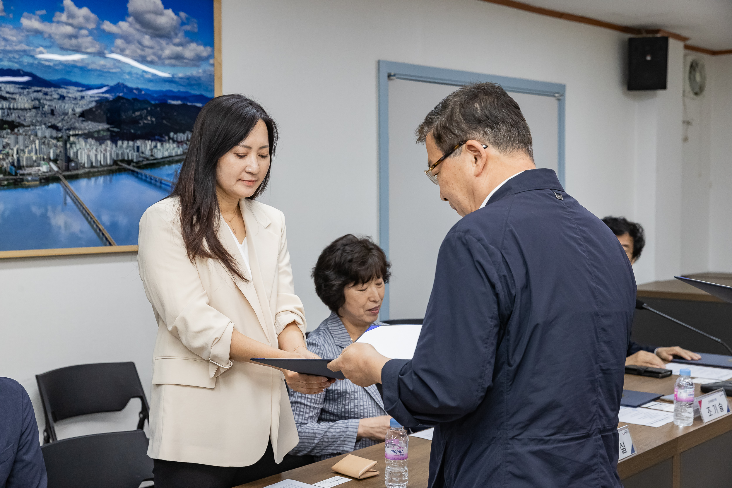
<path fill-rule="evenodd" d="M 443 153 L 474 139 L 503 154 L 520 152 L 534 159 L 529 124 L 516 100 L 497 83 L 472 83 L 453 91 L 427 113 L 415 132 L 418 143 L 431 132 Z"/>

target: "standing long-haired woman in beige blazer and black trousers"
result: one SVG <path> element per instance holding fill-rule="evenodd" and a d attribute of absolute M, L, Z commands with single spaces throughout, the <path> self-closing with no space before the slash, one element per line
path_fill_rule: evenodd
<path fill-rule="evenodd" d="M 225 487 L 269 476 L 298 443 L 285 382 L 332 380 L 250 358 L 317 357 L 305 346 L 281 211 L 254 200 L 277 127 L 256 102 L 208 102 L 171 196 L 140 221 L 138 263 L 157 319 L 151 437 L 155 486 Z"/>

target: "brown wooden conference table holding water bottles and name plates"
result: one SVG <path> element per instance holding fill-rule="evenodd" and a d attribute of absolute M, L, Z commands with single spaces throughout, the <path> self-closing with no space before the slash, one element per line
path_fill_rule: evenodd
<path fill-rule="evenodd" d="M 648 391 L 649 393 L 670 394 L 673 393 L 673 383 L 678 376 L 671 375 L 668 378 L 648 378 L 645 376 L 625 375 L 624 388 L 635 391 Z M 699 385 L 696 385 L 696 394 L 701 394 Z M 626 424 L 618 424 L 621 427 Z M 709 440 L 719 437 L 727 432 L 732 431 L 732 413 L 717 418 L 707 424 L 702 424 L 700 418 L 694 419 L 694 424 L 690 427 L 676 427 L 672 423 L 665 424 L 662 427 L 645 427 L 642 425 L 627 424 L 630 429 L 630 435 L 636 449 L 636 454 L 623 459 L 618 463 L 618 473 L 620 478 L 624 480 L 626 487 L 643 486 L 651 487 L 668 487 L 681 488 L 681 480 L 687 478 L 682 476 L 681 453 L 690 451 L 692 448 L 701 446 Z M 429 440 L 411 437 L 409 438 L 409 486 L 410 487 L 426 487 L 427 473 L 430 464 L 430 446 Z M 730 446 L 725 448 L 726 452 L 732 451 Z M 378 461 L 378 465 L 374 469 L 380 471 L 378 476 L 366 478 L 362 480 L 354 480 L 355 484 L 344 485 L 346 488 L 376 488 L 384 487 L 384 444 L 376 444 L 353 454 Z M 236 488 L 264 488 L 270 484 L 284 479 L 294 479 L 303 483 L 318 483 L 332 476 L 343 476 L 334 473 L 330 467 L 335 465 L 342 456 L 333 457 L 324 461 L 315 462 L 312 465 L 303 466 L 294 470 L 285 471 L 269 478 L 262 478 L 258 481 L 242 484 Z M 725 462 L 725 459 L 717 457 L 717 463 Z M 668 473 L 665 468 L 668 467 Z M 728 468 L 727 468 L 728 469 Z M 652 481 L 643 478 L 643 472 L 649 473 Z M 697 481 L 698 476 L 694 476 Z M 668 483 L 666 482 L 668 481 Z M 684 483 L 684 487 L 692 486 L 692 484 Z M 693 486 L 696 486 L 694 484 Z M 698 486 L 701 486 L 698 485 Z M 712 483 L 712 486 L 717 486 Z M 727 486 L 727 485 L 720 485 Z"/>

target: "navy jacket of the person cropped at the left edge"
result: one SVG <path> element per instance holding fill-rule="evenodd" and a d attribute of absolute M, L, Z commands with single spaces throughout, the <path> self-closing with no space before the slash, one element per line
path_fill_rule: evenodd
<path fill-rule="evenodd" d="M 0 378 L 0 488 L 45 488 L 33 405 L 25 388 Z"/>

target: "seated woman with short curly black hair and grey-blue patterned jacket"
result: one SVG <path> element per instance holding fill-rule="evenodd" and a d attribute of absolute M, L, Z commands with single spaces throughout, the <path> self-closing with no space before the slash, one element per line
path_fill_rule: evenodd
<path fill-rule="evenodd" d="M 313 268 L 315 292 L 332 313 L 307 337 L 307 350 L 335 359 L 370 325 L 382 324 L 376 318 L 389 266 L 381 247 L 352 234 L 321 252 Z M 391 417 L 376 385 L 343 380 L 314 395 L 290 390 L 290 403 L 300 438 L 290 454 L 320 461 L 384 442 L 389 430 Z"/>

